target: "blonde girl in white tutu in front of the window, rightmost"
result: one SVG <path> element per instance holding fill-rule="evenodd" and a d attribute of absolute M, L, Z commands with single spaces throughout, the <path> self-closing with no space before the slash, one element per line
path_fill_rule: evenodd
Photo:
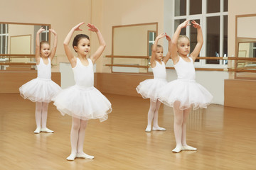
<path fill-rule="evenodd" d="M 182 150 L 196 150 L 195 147 L 186 144 L 186 121 L 188 114 L 193 109 L 206 108 L 212 101 L 213 96 L 200 84 L 195 81 L 195 68 L 193 62 L 198 57 L 203 45 L 203 33 L 201 26 L 196 21 L 191 21 L 197 29 L 197 44 L 193 52 L 190 52 L 188 37 L 180 35 L 181 29 L 190 26 L 189 20 L 178 26 L 171 45 L 171 59 L 178 79 L 169 82 L 161 90 L 160 101 L 174 108 L 174 135 L 176 147 L 173 152 Z"/>

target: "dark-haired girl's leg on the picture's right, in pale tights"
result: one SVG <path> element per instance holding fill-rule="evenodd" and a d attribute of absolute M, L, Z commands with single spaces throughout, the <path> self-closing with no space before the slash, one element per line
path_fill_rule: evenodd
<path fill-rule="evenodd" d="M 93 159 L 94 157 L 83 152 L 83 144 L 85 141 L 85 129 L 87 126 L 88 120 L 80 120 L 80 130 L 78 132 L 78 151 L 76 157 Z"/>

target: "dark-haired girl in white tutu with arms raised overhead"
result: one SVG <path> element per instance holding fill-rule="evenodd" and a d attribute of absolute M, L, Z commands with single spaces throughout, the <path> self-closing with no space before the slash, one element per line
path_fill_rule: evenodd
<path fill-rule="evenodd" d="M 89 30 L 96 33 L 100 42 L 100 47 L 97 48 L 93 55 L 89 56 L 90 39 L 85 34 L 76 35 L 73 40 L 73 48 L 78 53 L 78 57 L 73 55 L 68 46 L 73 33 L 75 30 L 81 30 L 79 27 L 82 24 L 84 23 L 79 23 L 72 28 L 64 40 L 65 54 L 73 68 L 75 86 L 64 89 L 53 98 L 53 104 L 62 115 L 68 114 L 72 116 L 70 132 L 71 154 L 67 157 L 70 161 L 73 161 L 76 157 L 94 158 L 83 152 L 87 120 L 97 118 L 100 121 L 107 120 L 107 114 L 112 111 L 110 101 L 93 86 L 93 64 L 102 55 L 106 47 L 100 30 L 90 23 L 87 24 L 90 28 Z"/>

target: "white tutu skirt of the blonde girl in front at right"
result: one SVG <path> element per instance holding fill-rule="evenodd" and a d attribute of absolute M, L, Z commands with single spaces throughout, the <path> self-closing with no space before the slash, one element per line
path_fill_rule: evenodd
<path fill-rule="evenodd" d="M 161 88 L 159 93 L 159 101 L 171 107 L 174 107 L 174 102 L 177 101 L 181 110 L 191 106 L 193 109 L 207 108 L 212 100 L 210 92 L 194 80 L 171 81 Z"/>

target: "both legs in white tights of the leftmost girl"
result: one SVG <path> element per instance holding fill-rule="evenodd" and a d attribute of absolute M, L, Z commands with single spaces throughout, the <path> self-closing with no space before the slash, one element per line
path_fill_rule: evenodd
<path fill-rule="evenodd" d="M 39 132 L 53 132 L 46 128 L 47 115 L 48 115 L 48 104 L 45 102 L 36 102 L 36 130 L 35 133 Z"/>

